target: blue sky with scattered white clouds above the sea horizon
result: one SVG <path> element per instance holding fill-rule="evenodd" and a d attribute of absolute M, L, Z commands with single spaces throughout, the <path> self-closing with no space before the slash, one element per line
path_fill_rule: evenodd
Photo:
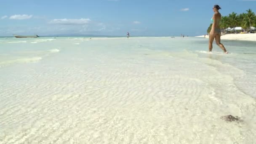
<path fill-rule="evenodd" d="M 222 15 L 256 12 L 256 0 L 5 0 L 0 36 L 204 35 L 215 4 Z"/>

